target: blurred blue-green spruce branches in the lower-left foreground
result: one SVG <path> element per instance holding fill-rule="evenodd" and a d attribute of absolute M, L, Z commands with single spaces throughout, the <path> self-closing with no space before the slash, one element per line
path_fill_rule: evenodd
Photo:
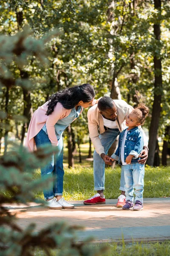
<path fill-rule="evenodd" d="M 28 153 L 24 148 L 8 152 L 0 158 L 0 254 L 4 256 L 31 256 L 35 248 L 41 248 L 49 255 L 51 248 L 61 249 L 59 255 L 93 256 L 99 249 L 87 249 L 91 239 L 76 243 L 75 231 L 81 227 L 70 227 L 60 221 L 35 232 L 36 224 L 30 224 L 25 230 L 16 224 L 15 215 L 3 206 L 5 202 L 28 204 L 34 201 L 34 189 L 47 187 L 51 180 L 33 179 L 34 170 L 44 166 L 54 152 L 52 147 L 44 147 L 36 153 Z M 10 197 L 6 195 L 10 194 Z M 106 247 L 100 248 L 100 255 Z"/>

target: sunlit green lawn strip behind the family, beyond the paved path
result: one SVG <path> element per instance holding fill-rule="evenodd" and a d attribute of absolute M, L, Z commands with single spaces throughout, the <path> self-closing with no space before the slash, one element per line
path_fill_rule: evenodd
<path fill-rule="evenodd" d="M 113 199 L 120 195 L 121 168 L 105 169 L 105 198 Z M 37 170 L 34 178 L 40 177 Z M 65 169 L 64 192 L 66 200 L 85 200 L 94 195 L 93 168 L 77 167 Z M 43 198 L 42 192 L 35 192 L 36 198 Z M 170 197 L 170 166 L 145 167 L 144 198 Z"/>

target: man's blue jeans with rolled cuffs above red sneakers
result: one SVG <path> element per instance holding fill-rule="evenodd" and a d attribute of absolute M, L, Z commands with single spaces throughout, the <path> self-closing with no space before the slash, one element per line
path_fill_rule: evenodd
<path fill-rule="evenodd" d="M 108 150 L 116 140 L 117 136 L 120 134 L 119 129 L 108 128 L 103 134 L 99 135 L 102 146 L 104 147 L 105 154 L 108 154 Z M 104 190 L 105 189 L 105 162 L 102 160 L 101 156 L 94 151 L 94 189 Z M 125 179 L 124 174 L 121 171 L 120 187 L 119 189 L 125 191 Z"/>

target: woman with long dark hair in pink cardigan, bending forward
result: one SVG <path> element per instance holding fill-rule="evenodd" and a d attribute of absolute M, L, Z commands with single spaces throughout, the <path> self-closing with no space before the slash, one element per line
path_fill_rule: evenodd
<path fill-rule="evenodd" d="M 95 104 L 95 92 L 90 84 L 74 86 L 53 94 L 49 102 L 33 114 L 26 137 L 26 147 L 34 151 L 34 144 L 40 147 L 51 144 L 57 147 L 51 162 L 41 168 L 42 177 L 54 177 L 51 189 L 44 190 L 46 206 L 49 209 L 72 209 L 62 198 L 63 191 L 63 141 L 62 133 L 82 113 L 83 108 Z"/>

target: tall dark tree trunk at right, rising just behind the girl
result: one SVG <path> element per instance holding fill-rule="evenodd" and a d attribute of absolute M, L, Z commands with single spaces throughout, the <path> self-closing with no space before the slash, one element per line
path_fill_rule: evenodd
<path fill-rule="evenodd" d="M 161 0 L 154 0 L 154 7 L 161 12 Z M 161 14 L 160 14 L 161 15 Z M 160 20 L 154 24 L 154 35 L 156 40 L 160 41 L 161 29 L 160 29 Z M 154 83 L 154 101 L 153 101 L 153 109 L 152 109 L 152 119 L 150 122 L 149 129 L 149 152 L 147 164 L 149 166 L 153 166 L 154 163 L 154 155 L 156 148 L 156 139 L 157 139 L 157 131 L 159 127 L 159 119 L 161 113 L 161 94 L 162 94 L 162 71 L 161 71 L 161 59 L 154 55 L 154 70 L 155 70 L 155 83 Z"/>

